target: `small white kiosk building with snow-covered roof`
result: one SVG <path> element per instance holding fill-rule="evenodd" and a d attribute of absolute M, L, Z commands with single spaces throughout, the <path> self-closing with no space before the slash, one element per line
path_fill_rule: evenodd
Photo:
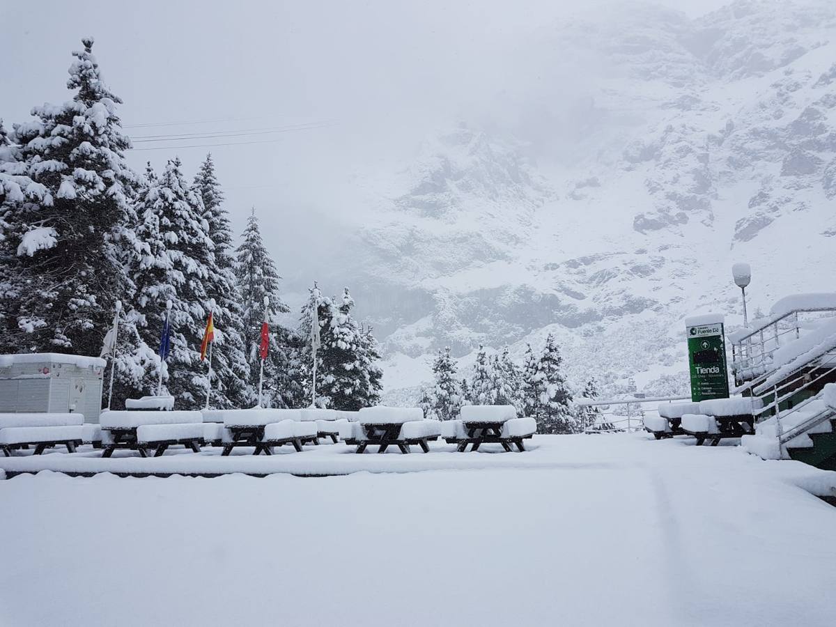
<path fill-rule="evenodd" d="M 0 413 L 78 412 L 99 422 L 105 363 L 74 354 L 0 354 Z"/>

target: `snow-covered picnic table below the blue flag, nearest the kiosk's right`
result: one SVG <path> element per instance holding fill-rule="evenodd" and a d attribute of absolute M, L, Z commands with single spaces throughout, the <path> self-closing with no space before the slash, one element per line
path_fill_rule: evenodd
<path fill-rule="evenodd" d="M 103 457 L 110 457 L 118 448 L 139 451 L 140 456 L 146 457 L 148 449 L 153 447 L 162 455 L 172 444 L 183 444 L 195 451 L 200 450 L 198 446 L 203 441 L 203 416 L 200 411 L 105 411 L 99 416 L 99 424 L 103 434 Z M 171 428 L 144 428 L 162 426 Z M 105 433 L 107 444 L 104 444 Z M 182 433 L 187 436 L 174 437 Z"/>

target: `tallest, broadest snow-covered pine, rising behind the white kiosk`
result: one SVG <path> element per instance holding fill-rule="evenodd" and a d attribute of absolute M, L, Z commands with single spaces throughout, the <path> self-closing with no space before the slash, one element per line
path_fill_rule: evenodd
<path fill-rule="evenodd" d="M 45 193 L 11 212 L 4 201 L 0 254 L 11 253 L 14 268 L 3 286 L 3 349 L 99 354 L 115 300 L 130 292 L 123 252 L 134 245 L 139 179 L 125 161 L 121 100 L 102 82 L 93 39 L 82 43 L 69 69 L 73 99 L 35 107 L 37 120 L 15 125 L 17 175 Z"/>

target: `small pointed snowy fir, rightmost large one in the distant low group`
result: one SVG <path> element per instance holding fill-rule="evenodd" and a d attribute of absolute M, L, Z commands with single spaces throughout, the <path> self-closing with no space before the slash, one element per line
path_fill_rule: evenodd
<path fill-rule="evenodd" d="M 548 334 L 538 363 L 535 390 L 538 392 L 532 417 L 540 433 L 577 433 L 578 421 L 572 415 L 572 395 L 563 378 L 563 358 L 553 334 Z"/>

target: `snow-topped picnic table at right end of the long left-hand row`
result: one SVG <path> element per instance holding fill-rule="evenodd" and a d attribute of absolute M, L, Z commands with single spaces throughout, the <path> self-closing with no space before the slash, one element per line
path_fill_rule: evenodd
<path fill-rule="evenodd" d="M 442 426 L 442 435 L 447 444 L 458 445 L 457 451 L 464 452 L 467 445 L 478 451 L 482 444 L 500 444 L 505 451 L 525 451 L 523 440 L 537 432 L 537 421 L 533 418 L 517 418 L 513 405 L 466 405 L 461 408 L 461 420 L 449 421 Z"/>

